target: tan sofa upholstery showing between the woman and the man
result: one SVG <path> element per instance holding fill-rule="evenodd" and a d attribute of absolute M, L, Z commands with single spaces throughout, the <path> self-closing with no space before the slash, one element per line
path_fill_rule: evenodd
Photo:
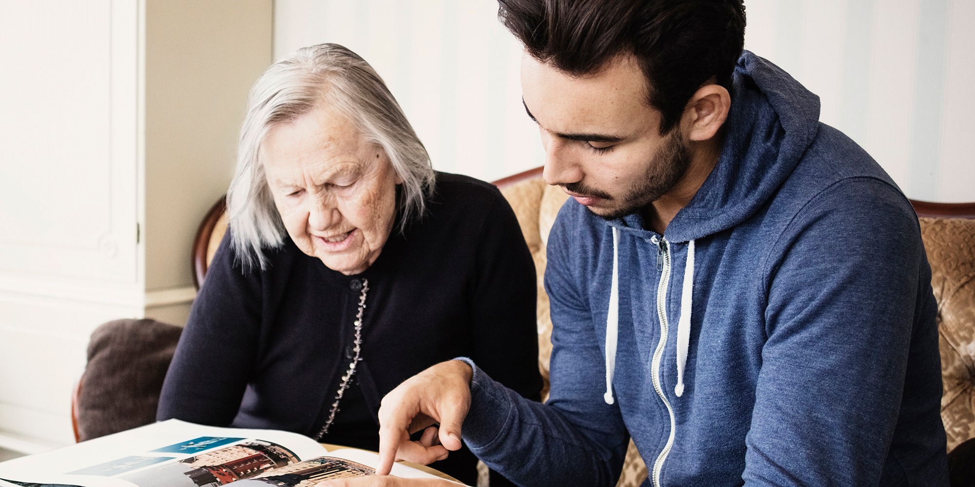
<path fill-rule="evenodd" d="M 531 250 L 535 261 L 535 272 L 538 277 L 538 368 L 544 379 L 542 399 L 548 398 L 549 392 L 549 356 L 552 355 L 552 320 L 549 318 L 549 300 L 542 286 L 545 275 L 545 245 L 548 244 L 548 234 L 555 223 L 559 208 L 568 198 L 565 193 L 555 186 L 545 184 L 540 176 L 514 183 L 501 188 L 501 193 L 508 199 L 508 203 L 515 210 L 518 222 L 522 225 L 525 242 Z M 637 487 L 646 478 L 646 466 L 637 452 L 633 441 L 630 441 L 626 460 L 623 464 L 623 474 L 620 475 L 618 487 Z"/>

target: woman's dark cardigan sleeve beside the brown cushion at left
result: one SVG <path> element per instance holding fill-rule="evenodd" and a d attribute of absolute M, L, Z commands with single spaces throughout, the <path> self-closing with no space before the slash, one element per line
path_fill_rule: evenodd
<path fill-rule="evenodd" d="M 230 426 L 253 373 L 260 326 L 257 271 L 235 265 L 228 231 L 216 250 L 166 374 L 156 419 Z"/>

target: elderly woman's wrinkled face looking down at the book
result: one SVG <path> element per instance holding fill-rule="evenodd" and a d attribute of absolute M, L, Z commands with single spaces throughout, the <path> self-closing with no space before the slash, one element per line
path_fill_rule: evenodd
<path fill-rule="evenodd" d="M 344 275 L 369 268 L 393 230 L 396 185 L 385 152 L 323 104 L 278 126 L 260 147 L 288 235 Z"/>

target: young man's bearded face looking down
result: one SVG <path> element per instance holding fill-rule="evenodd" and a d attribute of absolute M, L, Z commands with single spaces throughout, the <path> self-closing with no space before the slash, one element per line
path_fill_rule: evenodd
<path fill-rule="evenodd" d="M 660 134 L 660 112 L 646 103 L 646 80 L 632 57 L 574 77 L 525 56 L 522 92 L 545 147 L 545 181 L 603 218 L 667 194 L 690 163 L 680 125 Z"/>

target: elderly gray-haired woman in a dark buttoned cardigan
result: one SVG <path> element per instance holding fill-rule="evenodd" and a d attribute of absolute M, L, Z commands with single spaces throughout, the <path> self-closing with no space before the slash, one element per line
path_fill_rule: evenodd
<path fill-rule="evenodd" d="M 431 169 L 361 57 L 323 44 L 268 68 L 227 205 L 158 419 L 374 450 L 382 396 L 455 356 L 538 397 L 534 267 L 514 212 L 492 185 Z M 475 463 L 463 451 L 433 467 L 474 483 Z"/>

